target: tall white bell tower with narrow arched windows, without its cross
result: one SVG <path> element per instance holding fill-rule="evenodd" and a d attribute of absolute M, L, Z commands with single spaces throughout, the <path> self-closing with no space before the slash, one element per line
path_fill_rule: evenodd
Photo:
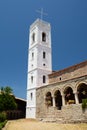
<path fill-rule="evenodd" d="M 37 19 L 29 34 L 26 118 L 36 118 L 36 88 L 48 84 L 51 72 L 51 26 Z"/>

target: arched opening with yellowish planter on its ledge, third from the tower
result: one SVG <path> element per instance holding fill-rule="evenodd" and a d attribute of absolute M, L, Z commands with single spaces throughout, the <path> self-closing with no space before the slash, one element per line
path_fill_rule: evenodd
<path fill-rule="evenodd" d="M 73 93 L 72 87 L 67 86 L 64 90 L 64 95 L 65 95 L 65 104 L 75 103 L 75 95 Z"/>

